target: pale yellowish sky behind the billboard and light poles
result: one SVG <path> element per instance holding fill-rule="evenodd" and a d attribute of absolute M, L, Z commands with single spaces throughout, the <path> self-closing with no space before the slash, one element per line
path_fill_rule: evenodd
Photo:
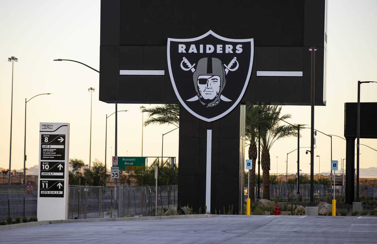
<path fill-rule="evenodd" d="M 13 90 L 12 169 L 23 168 L 25 98 L 28 102 L 26 167 L 38 164 L 39 122 L 70 123 L 70 158 L 89 161 L 90 92 L 94 87 L 92 114 L 92 161 L 104 162 L 106 114 L 115 105 L 98 100 L 99 75 L 81 64 L 53 59 L 74 59 L 100 69 L 99 0 L 1 0 L 0 8 L 0 167 L 9 167 L 12 63 Z M 315 108 L 315 128 L 343 136 L 344 103 L 357 101 L 357 81 L 377 81 L 377 1 L 328 1 L 327 105 Z M 257 38 L 257 37 L 253 37 Z M 377 102 L 377 84 L 363 84 L 362 102 Z M 118 156 L 141 156 L 142 104 L 120 104 L 118 110 Z M 149 107 L 151 105 L 144 104 Z M 310 106 L 284 106 L 291 123 L 310 125 Z M 373 113 L 374 111 L 371 111 Z M 114 152 L 114 119 L 108 119 L 107 162 Z M 146 119 L 146 114 L 144 115 Z M 173 126 L 144 127 L 143 156 L 161 155 L 161 136 Z M 360 143 L 377 149 L 376 139 Z M 310 130 L 302 131 L 300 146 L 310 146 Z M 330 170 L 330 139 L 316 137 L 314 172 Z M 270 173 L 285 173 L 287 153 L 297 139 L 276 142 L 271 151 Z M 246 148 L 247 150 L 248 148 Z M 307 148 L 309 149 L 309 148 Z M 377 151 L 360 147 L 360 168 L 377 167 Z M 164 136 L 164 156 L 178 159 L 178 130 Z M 276 158 L 276 156 L 278 158 Z M 345 158 L 345 140 L 333 137 L 333 160 Z M 288 157 L 288 172 L 296 172 L 297 153 Z M 300 151 L 300 168 L 310 172 L 310 155 Z M 277 165 L 276 165 L 277 164 Z M 373 173 L 373 172 L 372 172 Z M 377 176 L 377 170 L 375 172 Z"/>

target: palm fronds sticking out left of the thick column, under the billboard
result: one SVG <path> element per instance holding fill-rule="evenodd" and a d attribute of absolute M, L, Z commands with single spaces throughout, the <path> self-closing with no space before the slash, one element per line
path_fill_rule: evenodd
<path fill-rule="evenodd" d="M 144 126 L 151 124 L 171 124 L 179 127 L 179 104 L 162 104 L 152 108 L 143 108 L 141 112 L 148 113 L 149 118 Z"/>

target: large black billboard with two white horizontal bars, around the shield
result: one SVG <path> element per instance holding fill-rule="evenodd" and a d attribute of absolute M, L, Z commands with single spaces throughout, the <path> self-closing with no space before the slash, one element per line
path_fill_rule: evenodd
<path fill-rule="evenodd" d="M 254 40 L 243 104 L 310 104 L 315 46 L 316 105 L 326 95 L 326 1 L 101 1 L 100 100 L 178 103 L 168 72 L 167 38 L 209 30 Z"/>

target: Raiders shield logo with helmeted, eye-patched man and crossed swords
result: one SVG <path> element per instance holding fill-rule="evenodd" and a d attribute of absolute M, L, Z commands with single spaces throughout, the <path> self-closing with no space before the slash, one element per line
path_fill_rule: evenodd
<path fill-rule="evenodd" d="M 181 104 L 207 122 L 236 107 L 253 66 L 253 39 L 229 39 L 213 31 L 167 41 L 170 79 Z"/>

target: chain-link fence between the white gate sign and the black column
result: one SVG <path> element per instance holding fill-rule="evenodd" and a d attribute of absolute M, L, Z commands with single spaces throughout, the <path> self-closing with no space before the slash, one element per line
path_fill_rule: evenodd
<path fill-rule="evenodd" d="M 69 186 L 68 218 L 155 215 L 155 186 Z M 157 186 L 157 209 L 177 206 L 178 185 Z"/>

